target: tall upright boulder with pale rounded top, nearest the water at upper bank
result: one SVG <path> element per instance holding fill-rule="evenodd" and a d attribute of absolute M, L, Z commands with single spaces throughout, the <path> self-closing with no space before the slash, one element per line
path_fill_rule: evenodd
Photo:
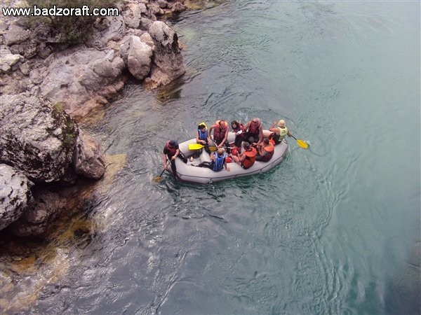
<path fill-rule="evenodd" d="M 178 36 L 164 22 L 155 21 L 149 27 L 155 49 L 153 54 L 152 87 L 167 85 L 185 73 L 182 54 L 178 45 Z"/>

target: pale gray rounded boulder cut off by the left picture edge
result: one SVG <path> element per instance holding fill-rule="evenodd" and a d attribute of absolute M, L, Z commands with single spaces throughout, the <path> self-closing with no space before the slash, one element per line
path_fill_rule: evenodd
<path fill-rule="evenodd" d="M 0 164 L 0 230 L 22 216 L 32 202 L 33 183 L 13 167 Z"/>

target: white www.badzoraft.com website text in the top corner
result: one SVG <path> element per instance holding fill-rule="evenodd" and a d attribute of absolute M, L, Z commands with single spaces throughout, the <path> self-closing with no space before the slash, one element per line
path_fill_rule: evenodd
<path fill-rule="evenodd" d="M 1 8 L 4 16 L 117 16 L 118 8 L 93 8 L 82 6 L 81 8 Z"/>

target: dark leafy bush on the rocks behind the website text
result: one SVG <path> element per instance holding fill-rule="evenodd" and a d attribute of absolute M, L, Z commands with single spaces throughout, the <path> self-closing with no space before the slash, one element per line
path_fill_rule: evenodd
<path fill-rule="evenodd" d="M 83 8 L 89 7 L 89 13 L 94 8 L 116 8 L 120 0 L 26 0 L 27 6 L 33 8 Z M 34 27 L 42 24 L 51 29 L 52 38 L 58 43 L 82 43 L 92 33 L 98 16 L 32 16 L 27 18 L 28 25 Z M 46 35 L 46 34 L 44 34 Z"/>

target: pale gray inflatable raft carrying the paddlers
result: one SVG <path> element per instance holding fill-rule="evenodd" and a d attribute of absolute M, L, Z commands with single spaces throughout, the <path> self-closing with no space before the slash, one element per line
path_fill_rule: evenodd
<path fill-rule="evenodd" d="M 229 132 L 229 143 L 234 142 L 234 139 L 234 132 Z M 185 153 L 187 157 L 197 153 L 197 151 L 189 150 L 189 144 L 196 144 L 196 139 L 187 140 L 179 144 L 180 151 Z M 213 143 L 210 144 L 210 146 L 212 145 Z M 175 166 L 177 167 L 177 175 L 181 181 L 202 184 L 215 183 L 217 181 L 224 181 L 225 179 L 235 179 L 237 177 L 267 172 L 283 160 L 287 149 L 288 144 L 286 143 L 286 140 L 283 139 L 280 144 L 274 146 L 274 155 L 269 162 L 256 161 L 249 169 L 243 169 L 239 164 L 234 162 L 234 160 L 231 163 L 227 163 L 227 166 L 230 169 L 229 172 L 225 168 L 219 172 L 214 172 L 212 169 L 208 169 L 207 167 L 195 167 L 194 165 L 199 165 L 201 162 L 210 162 L 210 157 L 204 149 L 199 158 L 194 159 L 192 162 L 189 161 L 187 164 L 182 162 L 179 158 L 175 159 Z M 168 167 L 167 171 L 171 172 L 171 168 Z"/>

